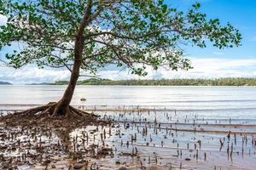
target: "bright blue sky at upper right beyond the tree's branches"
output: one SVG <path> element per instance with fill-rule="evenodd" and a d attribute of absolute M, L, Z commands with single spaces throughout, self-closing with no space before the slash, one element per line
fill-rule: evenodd
<path fill-rule="evenodd" d="M 188 54 L 196 57 L 220 57 L 230 59 L 255 58 L 256 51 L 256 1 L 255 0 L 179 0 L 166 1 L 177 8 L 187 9 L 195 2 L 201 3 L 201 11 L 208 18 L 218 18 L 223 24 L 230 22 L 238 28 L 242 34 L 242 46 L 239 48 L 228 48 L 218 50 L 207 47 L 186 48 Z"/>

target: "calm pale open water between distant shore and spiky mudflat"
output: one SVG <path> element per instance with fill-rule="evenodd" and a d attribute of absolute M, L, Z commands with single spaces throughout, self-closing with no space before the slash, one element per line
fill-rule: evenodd
<path fill-rule="evenodd" d="M 0 108 L 44 105 L 66 86 L 0 86 Z M 86 101 L 80 101 L 85 98 Z M 139 105 L 181 111 L 255 113 L 256 87 L 77 86 L 72 105 Z"/>

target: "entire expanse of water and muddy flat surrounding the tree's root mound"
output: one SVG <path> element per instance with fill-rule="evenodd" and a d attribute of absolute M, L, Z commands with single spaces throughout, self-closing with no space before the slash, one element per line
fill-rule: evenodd
<path fill-rule="evenodd" d="M 0 117 L 57 101 L 64 90 L 0 86 Z M 102 122 L 2 123 L 0 169 L 256 167 L 255 87 L 78 86 L 72 105 Z"/>

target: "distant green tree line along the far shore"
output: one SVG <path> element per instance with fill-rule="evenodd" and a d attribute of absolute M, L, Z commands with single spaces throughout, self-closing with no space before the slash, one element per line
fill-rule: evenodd
<path fill-rule="evenodd" d="M 55 85 L 66 85 L 58 81 Z M 218 79 L 157 79 L 157 80 L 109 80 L 90 78 L 79 81 L 78 85 L 125 85 L 125 86 L 256 86 L 256 78 L 218 78 Z"/>

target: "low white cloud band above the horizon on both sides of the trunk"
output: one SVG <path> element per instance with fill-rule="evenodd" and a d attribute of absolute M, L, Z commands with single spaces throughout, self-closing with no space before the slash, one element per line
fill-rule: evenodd
<path fill-rule="evenodd" d="M 112 80 L 119 79 L 147 79 L 147 78 L 218 78 L 218 77 L 256 77 L 256 58 L 254 59 L 221 59 L 221 58 L 192 58 L 194 69 L 189 71 L 170 71 L 161 68 L 152 71 L 148 68 L 147 77 L 132 75 L 129 71 L 106 70 L 98 75 Z M 25 67 L 20 70 L 0 68 L 0 81 L 24 84 L 31 82 L 55 82 L 68 80 L 70 72 L 67 70 L 49 70 Z"/>

